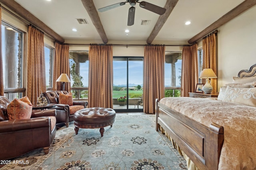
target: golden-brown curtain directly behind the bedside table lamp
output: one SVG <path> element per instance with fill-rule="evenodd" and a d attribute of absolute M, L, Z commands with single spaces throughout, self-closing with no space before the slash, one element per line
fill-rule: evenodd
<path fill-rule="evenodd" d="M 216 61 L 216 38 L 217 33 L 212 33 L 211 35 L 205 37 L 203 39 L 203 69 L 204 68 L 212 68 L 214 73 L 217 75 L 217 61 Z M 217 75 L 218 77 L 218 75 Z M 216 94 L 217 92 L 217 78 L 212 78 L 212 93 Z M 205 79 L 203 80 L 205 83 Z"/>

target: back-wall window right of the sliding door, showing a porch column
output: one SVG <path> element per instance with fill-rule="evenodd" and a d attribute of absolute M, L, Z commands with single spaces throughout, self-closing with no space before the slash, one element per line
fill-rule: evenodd
<path fill-rule="evenodd" d="M 180 96 L 181 52 L 166 52 L 164 65 L 165 97 Z"/>

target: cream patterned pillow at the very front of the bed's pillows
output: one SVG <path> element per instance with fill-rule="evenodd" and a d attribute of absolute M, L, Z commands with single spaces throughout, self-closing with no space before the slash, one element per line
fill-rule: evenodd
<path fill-rule="evenodd" d="M 222 101 L 256 107 L 256 88 L 237 88 L 227 86 Z"/>

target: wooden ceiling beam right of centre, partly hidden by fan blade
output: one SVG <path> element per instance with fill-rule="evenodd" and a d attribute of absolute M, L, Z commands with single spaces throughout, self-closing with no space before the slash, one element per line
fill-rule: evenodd
<path fill-rule="evenodd" d="M 174 9 L 174 7 L 176 6 L 177 2 L 178 2 L 178 0 L 166 0 L 166 4 L 164 6 L 164 8 L 166 9 L 166 12 L 163 15 L 159 16 L 159 18 L 156 22 L 156 25 L 154 26 L 154 29 L 152 30 L 152 32 L 150 33 L 150 35 L 147 39 L 148 44 L 151 44 L 152 41 L 155 39 L 156 35 L 158 35 L 159 31 L 161 30 L 164 23 L 170 16 L 170 14 L 171 14 L 172 10 Z"/>

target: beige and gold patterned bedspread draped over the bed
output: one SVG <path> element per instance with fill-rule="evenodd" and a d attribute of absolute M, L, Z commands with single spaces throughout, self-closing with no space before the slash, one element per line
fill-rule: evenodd
<path fill-rule="evenodd" d="M 160 103 L 209 127 L 224 127 L 219 170 L 256 169 L 256 107 L 208 98 L 163 98 Z"/>

